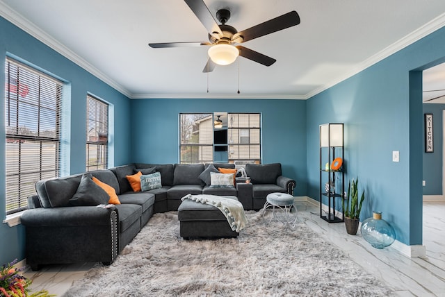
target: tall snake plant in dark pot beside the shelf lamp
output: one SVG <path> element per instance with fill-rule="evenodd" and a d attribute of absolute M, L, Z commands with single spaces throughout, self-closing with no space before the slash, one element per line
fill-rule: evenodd
<path fill-rule="evenodd" d="M 350 235 L 356 235 L 359 228 L 359 216 L 362 211 L 364 201 L 364 190 L 359 200 L 358 190 L 359 178 L 353 179 L 353 183 L 348 183 L 348 194 L 343 197 L 343 212 L 345 217 L 346 232 Z"/>

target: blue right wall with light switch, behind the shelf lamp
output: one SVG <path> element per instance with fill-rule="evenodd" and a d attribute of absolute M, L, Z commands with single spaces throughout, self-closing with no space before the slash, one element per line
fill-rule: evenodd
<path fill-rule="evenodd" d="M 444 56 L 442 28 L 307 100 L 308 196 L 318 199 L 318 125 L 343 122 L 346 180 L 358 176 L 366 191 L 361 219 L 382 211 L 399 241 L 421 244 L 421 70 Z"/>

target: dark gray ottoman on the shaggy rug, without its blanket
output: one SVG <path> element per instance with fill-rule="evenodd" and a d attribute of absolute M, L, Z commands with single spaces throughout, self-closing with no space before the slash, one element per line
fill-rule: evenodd
<path fill-rule="evenodd" d="M 236 196 L 223 197 L 238 200 Z M 184 239 L 237 237 L 239 235 L 238 232 L 232 231 L 223 212 L 213 205 L 186 199 L 178 207 L 178 219 L 179 235 Z"/>

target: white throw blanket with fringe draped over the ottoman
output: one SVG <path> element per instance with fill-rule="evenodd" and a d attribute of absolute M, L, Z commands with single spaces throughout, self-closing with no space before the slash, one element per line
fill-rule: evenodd
<path fill-rule="evenodd" d="M 229 222 L 230 228 L 232 228 L 233 231 L 240 232 L 240 230 L 243 230 L 245 227 L 245 224 L 248 223 L 248 219 L 245 217 L 243 205 L 241 202 L 235 199 L 205 194 L 187 194 L 181 198 L 182 201 L 186 199 L 217 207 L 218 210 L 223 212 L 227 218 L 227 221 Z"/>

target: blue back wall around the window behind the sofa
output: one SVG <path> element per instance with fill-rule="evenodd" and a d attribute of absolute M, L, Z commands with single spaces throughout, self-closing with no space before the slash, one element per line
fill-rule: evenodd
<path fill-rule="evenodd" d="M 180 112 L 261 112 L 263 163 L 281 162 L 306 194 L 306 101 L 140 99 L 131 101 L 132 161 L 179 162 Z"/>

